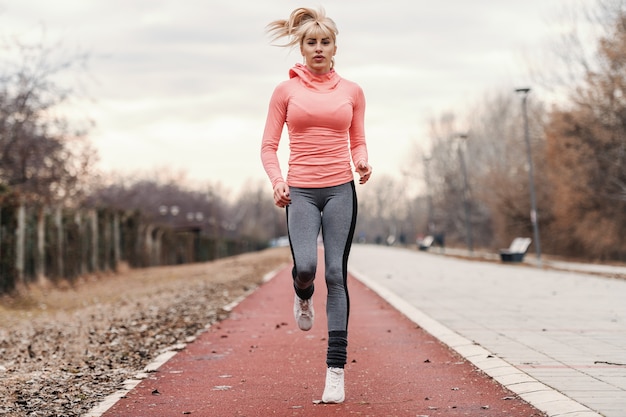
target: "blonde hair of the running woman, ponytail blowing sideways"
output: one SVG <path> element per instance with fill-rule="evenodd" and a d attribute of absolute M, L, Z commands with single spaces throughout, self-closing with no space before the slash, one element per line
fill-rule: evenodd
<path fill-rule="evenodd" d="M 337 25 L 326 16 L 322 7 L 318 10 L 300 7 L 291 12 L 288 20 L 275 20 L 266 26 L 272 35 L 272 42 L 288 38 L 287 43 L 279 46 L 301 45 L 306 36 L 324 36 L 337 41 Z"/>

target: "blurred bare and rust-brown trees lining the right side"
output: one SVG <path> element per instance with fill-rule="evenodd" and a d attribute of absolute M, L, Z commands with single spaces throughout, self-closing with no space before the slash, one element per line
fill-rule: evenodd
<path fill-rule="evenodd" d="M 599 1 L 584 16 L 601 32 L 596 48 L 584 50 L 577 34 L 568 34 L 558 46 L 566 73 L 543 74 L 544 82 L 551 79 L 548 87 L 560 89 L 558 103 L 549 105 L 532 90 L 524 102 L 511 89 L 486 96 L 463 123 L 454 114 L 433 121 L 430 149 L 421 153 L 432 198 L 430 229 L 423 230 L 445 231 L 459 243 L 469 232 L 486 248 L 532 237 L 529 191 L 534 185 L 545 252 L 626 260 L 626 6 Z"/>

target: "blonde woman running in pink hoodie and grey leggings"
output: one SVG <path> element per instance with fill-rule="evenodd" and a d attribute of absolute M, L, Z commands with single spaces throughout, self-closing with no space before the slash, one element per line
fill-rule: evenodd
<path fill-rule="evenodd" d="M 372 173 L 364 133 L 365 97 L 361 88 L 334 70 L 335 23 L 324 10 L 298 8 L 288 20 L 268 25 L 281 46 L 299 45 L 304 64 L 289 70 L 289 80 L 272 94 L 261 160 L 274 189 L 274 201 L 286 208 L 293 257 L 294 315 L 298 327 L 313 325 L 313 281 L 317 237 L 321 230 L 328 298 L 326 385 L 322 401 L 345 399 L 350 303 L 346 286 L 348 255 L 354 235 L 357 199 L 351 163 L 365 184 Z M 289 167 L 284 179 L 277 157 L 287 125 Z"/>

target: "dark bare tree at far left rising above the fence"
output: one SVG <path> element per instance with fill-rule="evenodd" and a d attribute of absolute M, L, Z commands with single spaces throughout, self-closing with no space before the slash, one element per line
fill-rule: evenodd
<path fill-rule="evenodd" d="M 73 94 L 55 77 L 86 56 L 54 55 L 56 46 L 5 45 L 0 63 L 0 182 L 44 204 L 76 201 L 97 157 L 85 127 L 70 126 L 59 106 Z M 72 198 L 70 200 L 70 198 Z"/>

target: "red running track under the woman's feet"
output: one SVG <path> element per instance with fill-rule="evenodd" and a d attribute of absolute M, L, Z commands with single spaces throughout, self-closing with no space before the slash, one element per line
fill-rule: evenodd
<path fill-rule="evenodd" d="M 294 323 L 286 267 L 236 305 L 227 320 L 101 407 L 107 411 L 90 415 L 543 416 L 352 277 L 346 401 L 316 404 L 326 351 L 319 277 L 322 265 L 310 332 Z"/>

